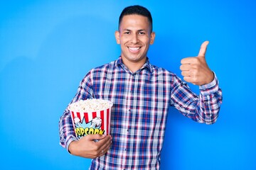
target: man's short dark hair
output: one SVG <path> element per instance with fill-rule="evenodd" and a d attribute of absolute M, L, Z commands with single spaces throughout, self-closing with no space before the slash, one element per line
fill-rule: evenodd
<path fill-rule="evenodd" d="M 152 21 L 151 13 L 149 12 L 149 10 L 147 8 L 145 8 L 143 6 L 139 6 L 139 5 L 127 6 L 126 8 L 124 8 L 124 10 L 122 11 L 122 13 L 119 16 L 118 28 L 120 26 L 120 23 L 122 22 L 122 18 L 124 16 L 132 15 L 132 14 L 137 14 L 139 16 L 146 16 L 146 18 L 148 18 L 148 20 L 149 20 L 149 26 L 151 27 L 150 32 L 152 32 L 152 30 L 153 30 L 153 21 Z"/>

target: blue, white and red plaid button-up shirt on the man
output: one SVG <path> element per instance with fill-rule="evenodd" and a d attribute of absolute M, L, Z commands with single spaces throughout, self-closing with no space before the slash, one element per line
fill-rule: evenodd
<path fill-rule="evenodd" d="M 142 69 L 130 72 L 121 57 L 92 69 L 80 82 L 73 102 L 102 98 L 112 107 L 112 147 L 92 159 L 90 169 L 159 169 L 166 115 L 174 106 L 199 123 L 215 123 L 222 92 L 215 79 L 199 87 L 199 96 L 175 74 L 146 61 Z M 76 140 L 69 111 L 60 118 L 60 145 Z"/>

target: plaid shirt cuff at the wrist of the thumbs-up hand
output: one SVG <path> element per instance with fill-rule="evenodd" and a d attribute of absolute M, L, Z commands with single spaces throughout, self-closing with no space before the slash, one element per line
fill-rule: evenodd
<path fill-rule="evenodd" d="M 218 88 L 218 79 L 216 77 L 215 72 L 213 72 L 213 74 L 214 74 L 213 81 L 211 81 L 209 84 L 204 84 L 204 85 L 199 86 L 199 89 L 200 89 L 201 94 L 203 96 L 206 96 L 206 95 L 209 95 L 209 94 L 213 94 L 216 91 L 218 91 L 218 89 L 219 89 Z"/>

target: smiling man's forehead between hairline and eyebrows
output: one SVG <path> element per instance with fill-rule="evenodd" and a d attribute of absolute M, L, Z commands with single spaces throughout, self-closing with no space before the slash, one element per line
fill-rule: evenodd
<path fill-rule="evenodd" d="M 127 15 L 122 18 L 119 28 L 120 30 L 129 28 L 149 29 L 149 20 L 146 16 L 140 16 L 137 14 Z"/>

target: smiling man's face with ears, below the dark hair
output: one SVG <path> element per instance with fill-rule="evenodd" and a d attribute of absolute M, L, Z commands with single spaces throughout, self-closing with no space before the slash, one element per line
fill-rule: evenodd
<path fill-rule="evenodd" d="M 155 37 L 150 30 L 149 21 L 145 16 L 127 15 L 122 18 L 115 38 L 121 45 L 124 64 L 144 64 L 149 45 L 153 44 Z"/>

